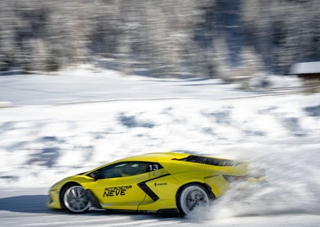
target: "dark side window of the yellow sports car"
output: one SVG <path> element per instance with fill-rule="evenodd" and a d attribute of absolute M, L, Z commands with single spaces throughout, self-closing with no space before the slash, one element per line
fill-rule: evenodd
<path fill-rule="evenodd" d="M 139 175 L 149 171 L 148 162 L 129 161 L 112 166 L 106 166 L 99 170 L 99 179 L 115 178 L 115 177 L 129 177 Z"/>

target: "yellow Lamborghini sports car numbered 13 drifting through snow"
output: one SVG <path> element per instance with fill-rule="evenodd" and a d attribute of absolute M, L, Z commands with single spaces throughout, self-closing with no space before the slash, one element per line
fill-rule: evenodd
<path fill-rule="evenodd" d="M 50 188 L 49 208 L 85 213 L 90 208 L 189 215 L 220 197 L 233 181 L 250 176 L 246 161 L 185 153 L 128 157 L 68 177 Z"/>

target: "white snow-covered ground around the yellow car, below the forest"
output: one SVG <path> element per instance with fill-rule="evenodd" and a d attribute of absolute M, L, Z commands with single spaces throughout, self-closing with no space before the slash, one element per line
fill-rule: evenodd
<path fill-rule="evenodd" d="M 70 71 L 0 76 L 0 106 L 1 226 L 320 226 L 320 94 Z M 189 219 L 45 206 L 63 177 L 173 150 L 250 161 L 266 168 L 270 187 L 230 190 Z"/>

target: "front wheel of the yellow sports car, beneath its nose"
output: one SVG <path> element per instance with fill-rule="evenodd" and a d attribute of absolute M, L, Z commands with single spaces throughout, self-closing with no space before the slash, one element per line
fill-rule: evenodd
<path fill-rule="evenodd" d="M 89 197 L 86 189 L 81 186 L 71 186 L 64 190 L 63 205 L 70 213 L 86 213 L 89 210 Z"/>

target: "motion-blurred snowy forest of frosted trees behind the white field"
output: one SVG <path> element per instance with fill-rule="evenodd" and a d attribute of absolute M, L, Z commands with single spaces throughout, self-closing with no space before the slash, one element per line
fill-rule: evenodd
<path fill-rule="evenodd" d="M 286 75 L 320 57 L 319 0 L 1 0 L 0 70 L 114 59 L 154 77 Z"/>

